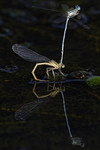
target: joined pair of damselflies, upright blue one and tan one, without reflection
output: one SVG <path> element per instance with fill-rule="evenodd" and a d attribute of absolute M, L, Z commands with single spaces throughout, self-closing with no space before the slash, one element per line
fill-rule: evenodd
<path fill-rule="evenodd" d="M 54 12 L 60 12 L 61 11 L 57 11 L 54 9 L 48 9 L 48 8 L 42 8 L 42 7 L 37 7 L 37 6 L 33 6 L 34 8 L 39 8 L 39 9 L 43 9 L 43 10 L 51 10 Z M 76 19 L 74 19 L 73 17 L 77 16 L 79 14 L 80 11 L 80 6 L 76 5 L 75 8 L 69 9 L 67 5 L 62 5 L 64 12 L 62 12 L 62 17 L 58 18 L 55 20 L 55 23 L 60 23 L 62 21 L 66 20 L 66 24 L 65 24 L 65 29 L 64 29 L 64 34 L 63 34 L 63 40 L 62 40 L 62 49 L 61 49 L 61 59 L 60 62 L 57 63 L 54 60 L 50 60 L 49 58 L 42 56 L 24 46 L 18 45 L 18 44 L 14 44 L 12 46 L 13 51 L 18 54 L 20 57 L 22 57 L 25 60 L 31 61 L 31 62 L 38 62 L 35 67 L 32 70 L 32 75 L 34 77 L 35 80 L 40 81 L 40 79 L 38 79 L 35 75 L 35 70 L 38 66 L 40 65 L 47 65 L 49 67 L 46 68 L 46 74 L 49 78 L 49 72 L 52 71 L 53 77 L 55 79 L 55 70 L 58 70 L 59 73 L 62 76 L 66 76 L 62 71 L 61 68 L 64 68 L 65 65 L 62 63 L 63 62 L 63 55 L 64 55 L 64 42 L 65 42 L 65 35 L 66 35 L 66 30 L 67 30 L 67 25 L 68 25 L 68 21 L 70 18 L 72 18 L 73 20 L 75 20 L 77 23 L 79 23 L 80 25 L 82 25 L 84 28 L 89 29 L 89 27 L 85 24 L 82 24 L 80 22 L 78 22 Z"/>

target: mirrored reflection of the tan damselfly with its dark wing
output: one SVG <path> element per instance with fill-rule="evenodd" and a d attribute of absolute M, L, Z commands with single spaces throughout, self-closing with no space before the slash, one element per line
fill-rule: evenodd
<path fill-rule="evenodd" d="M 55 97 L 58 93 L 61 91 L 65 91 L 65 87 L 55 86 L 55 83 L 52 87 L 50 87 L 49 83 L 47 85 L 47 91 L 46 94 L 39 95 L 36 91 L 36 82 L 33 87 L 33 93 L 36 96 L 37 99 L 35 99 L 33 102 L 26 103 L 22 107 L 20 107 L 15 112 L 15 119 L 16 120 L 27 120 L 34 111 L 36 111 L 44 102 L 48 102 L 50 100 L 50 97 Z"/>

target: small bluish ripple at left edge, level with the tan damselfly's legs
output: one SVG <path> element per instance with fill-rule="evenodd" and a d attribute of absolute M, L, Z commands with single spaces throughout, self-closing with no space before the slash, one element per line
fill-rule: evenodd
<path fill-rule="evenodd" d="M 7 73 L 14 73 L 18 70 L 18 67 L 15 65 L 9 65 L 5 67 L 0 67 L 0 71 L 7 72 Z"/>

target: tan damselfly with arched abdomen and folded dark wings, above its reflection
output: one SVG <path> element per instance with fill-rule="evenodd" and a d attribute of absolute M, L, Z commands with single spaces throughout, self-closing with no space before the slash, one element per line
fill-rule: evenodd
<path fill-rule="evenodd" d="M 35 80 L 41 81 L 35 75 L 35 71 L 36 71 L 37 67 L 41 66 L 41 65 L 49 66 L 48 68 L 46 68 L 46 74 L 47 74 L 48 78 L 49 78 L 49 72 L 51 71 L 53 74 L 53 77 L 55 79 L 55 72 L 54 72 L 55 70 L 58 70 L 62 76 L 65 76 L 64 73 L 61 71 L 61 68 L 65 67 L 64 64 L 57 63 L 55 60 L 50 60 L 49 58 L 47 58 L 43 55 L 40 55 L 40 54 L 32 51 L 31 49 L 28 49 L 28 48 L 18 45 L 18 44 L 14 44 L 12 46 L 12 49 L 17 55 L 19 55 L 23 59 L 30 61 L 30 62 L 38 62 L 38 63 L 36 63 L 35 67 L 32 70 L 32 75 Z"/>

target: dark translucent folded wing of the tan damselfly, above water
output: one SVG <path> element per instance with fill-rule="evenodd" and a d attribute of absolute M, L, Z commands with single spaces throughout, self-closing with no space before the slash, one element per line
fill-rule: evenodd
<path fill-rule="evenodd" d="M 17 55 L 19 55 L 20 57 L 22 57 L 23 59 L 29 62 L 49 62 L 50 61 L 49 58 L 42 56 L 32 51 L 31 49 L 28 49 L 18 44 L 14 44 L 12 46 L 12 49 Z"/>

